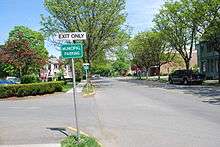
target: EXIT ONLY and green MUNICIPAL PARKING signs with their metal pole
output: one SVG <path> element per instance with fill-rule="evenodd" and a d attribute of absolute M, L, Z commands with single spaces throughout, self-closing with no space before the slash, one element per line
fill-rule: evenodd
<path fill-rule="evenodd" d="M 62 41 L 74 41 L 74 40 L 86 40 L 85 32 L 70 32 L 70 33 L 59 33 L 58 40 Z M 79 141 L 80 132 L 77 117 L 77 103 L 76 103 L 76 76 L 74 68 L 74 59 L 83 57 L 83 45 L 81 43 L 65 43 L 61 45 L 61 55 L 64 59 L 72 60 L 72 76 L 73 76 L 73 107 L 75 112 L 75 124 L 76 124 L 76 135 Z"/>

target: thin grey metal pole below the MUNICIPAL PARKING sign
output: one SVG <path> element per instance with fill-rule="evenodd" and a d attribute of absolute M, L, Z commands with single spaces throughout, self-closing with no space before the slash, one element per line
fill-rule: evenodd
<path fill-rule="evenodd" d="M 75 76 L 75 68 L 74 68 L 74 59 L 72 58 L 72 76 L 73 76 L 73 106 L 75 111 L 75 124 L 76 124 L 76 136 L 77 141 L 79 141 L 79 125 L 77 118 L 77 107 L 76 107 L 76 76 Z"/>

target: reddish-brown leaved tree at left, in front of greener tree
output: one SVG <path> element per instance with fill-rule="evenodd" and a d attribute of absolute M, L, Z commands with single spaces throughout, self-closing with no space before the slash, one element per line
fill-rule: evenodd
<path fill-rule="evenodd" d="M 38 73 L 39 69 L 46 64 L 46 59 L 30 47 L 23 33 L 18 33 L 16 38 L 10 38 L 0 50 L 0 61 L 8 64 L 10 69 L 16 69 L 19 76 Z M 4 68 L 7 70 L 7 68 Z"/>

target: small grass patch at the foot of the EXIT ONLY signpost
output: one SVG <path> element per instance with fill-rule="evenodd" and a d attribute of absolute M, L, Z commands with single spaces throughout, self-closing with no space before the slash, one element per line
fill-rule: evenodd
<path fill-rule="evenodd" d="M 101 147 L 95 138 L 80 135 L 80 143 L 77 143 L 76 136 L 68 136 L 61 142 L 61 147 Z"/>

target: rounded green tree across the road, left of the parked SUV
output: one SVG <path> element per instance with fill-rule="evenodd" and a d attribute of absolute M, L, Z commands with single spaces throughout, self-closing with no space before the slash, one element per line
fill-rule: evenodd
<path fill-rule="evenodd" d="M 133 62 L 139 67 L 144 67 L 146 71 L 151 66 L 157 66 L 160 70 L 163 64 L 171 62 L 175 57 L 175 52 L 160 32 L 138 34 L 131 40 L 129 49 L 133 55 Z"/>

